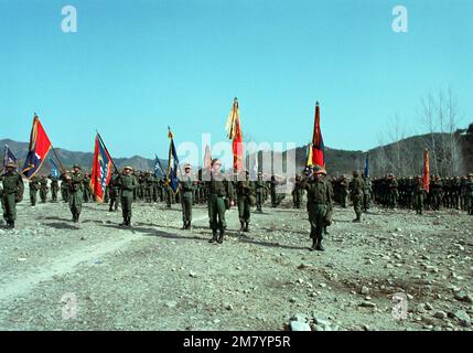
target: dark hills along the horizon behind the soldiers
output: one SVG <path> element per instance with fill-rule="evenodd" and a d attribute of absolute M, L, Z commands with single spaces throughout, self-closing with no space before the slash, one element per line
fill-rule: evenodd
<path fill-rule="evenodd" d="M 369 153 L 370 174 L 373 176 L 394 172 L 397 175 L 419 174 L 422 170 L 422 151 L 430 150 L 431 172 L 442 175 L 459 175 L 473 171 L 473 124 L 467 129 L 458 130 L 454 135 L 455 143 L 448 133 L 427 133 L 409 137 L 397 142 L 379 146 L 367 151 Z M 18 142 L 10 139 L 0 140 L 0 148 L 8 145 L 13 153 L 24 160 L 28 152 L 26 142 Z M 56 152 L 66 168 L 78 163 L 85 169 L 92 168 L 93 153 L 68 151 L 56 148 Z M 277 152 L 275 152 L 277 153 Z M 286 161 L 287 152 L 283 152 Z M 52 154 L 51 154 L 52 156 Z M 50 157 L 51 157 L 50 156 Z M 326 169 L 331 175 L 350 174 L 354 169 L 362 170 L 366 152 L 355 150 L 341 150 L 325 148 Z M 259 153 L 259 165 L 262 156 Z M 307 148 L 295 149 L 297 170 L 305 164 Z M 131 158 L 114 159 L 118 168 L 131 165 L 137 170 L 153 170 L 154 161 L 140 156 Z M 166 161 L 162 160 L 163 165 Z M 283 163 L 286 168 L 286 163 Z M 46 162 L 44 168 L 49 171 Z"/>

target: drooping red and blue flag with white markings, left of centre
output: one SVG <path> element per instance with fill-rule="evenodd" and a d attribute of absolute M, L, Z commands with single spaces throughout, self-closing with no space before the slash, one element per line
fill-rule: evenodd
<path fill-rule="evenodd" d="M 110 174 L 111 157 L 97 133 L 95 137 L 94 161 L 92 163 L 90 189 L 99 203 L 104 202 L 105 189 L 110 181 Z"/>

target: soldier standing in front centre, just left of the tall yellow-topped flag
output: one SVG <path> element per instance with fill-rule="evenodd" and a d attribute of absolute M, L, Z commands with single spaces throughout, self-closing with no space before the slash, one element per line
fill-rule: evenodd
<path fill-rule="evenodd" d="M 219 159 L 214 159 L 211 164 L 211 175 L 204 180 L 208 186 L 208 218 L 212 228 L 212 239 L 209 243 L 217 242 L 222 244 L 224 240 L 225 229 L 227 223 L 225 221 L 226 202 L 233 203 L 233 200 L 228 199 L 233 194 L 232 182 L 228 181 L 221 171 L 222 162 Z M 217 237 L 218 232 L 218 237 Z"/>

